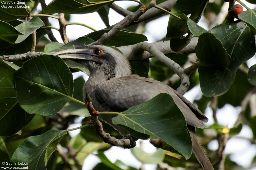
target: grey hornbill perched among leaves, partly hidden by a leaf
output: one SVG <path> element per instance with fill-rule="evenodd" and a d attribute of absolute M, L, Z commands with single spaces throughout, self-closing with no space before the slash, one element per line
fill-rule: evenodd
<path fill-rule="evenodd" d="M 159 93 L 168 93 L 185 116 L 193 143 L 193 152 L 205 170 L 213 169 L 207 155 L 202 149 L 195 127 L 204 128 L 201 121 L 207 122 L 206 116 L 171 87 L 151 78 L 131 75 L 127 58 L 119 51 L 106 46 L 74 45 L 74 48 L 84 49 L 75 54 L 76 61 L 86 66 L 90 77 L 84 84 L 83 95 L 92 98 L 92 104 L 97 111 L 122 112 L 134 105 L 142 104 Z M 123 136 L 127 132 L 112 123 L 111 115 L 99 115 L 99 118 L 118 130 Z"/>

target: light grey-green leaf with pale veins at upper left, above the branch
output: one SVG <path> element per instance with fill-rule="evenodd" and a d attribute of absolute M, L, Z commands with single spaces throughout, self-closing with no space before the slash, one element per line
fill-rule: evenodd
<path fill-rule="evenodd" d="M 15 41 L 16 44 L 24 41 L 30 34 L 44 25 L 44 22 L 39 17 L 33 17 L 27 22 L 17 25 L 15 28 L 24 35 L 19 35 Z"/>

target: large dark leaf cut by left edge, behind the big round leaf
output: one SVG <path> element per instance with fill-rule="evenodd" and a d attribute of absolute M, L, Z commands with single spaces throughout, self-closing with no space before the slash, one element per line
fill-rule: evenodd
<path fill-rule="evenodd" d="M 27 125 L 34 114 L 26 113 L 18 104 L 13 87 L 13 73 L 19 67 L 0 59 L 0 136 L 11 136 Z"/>

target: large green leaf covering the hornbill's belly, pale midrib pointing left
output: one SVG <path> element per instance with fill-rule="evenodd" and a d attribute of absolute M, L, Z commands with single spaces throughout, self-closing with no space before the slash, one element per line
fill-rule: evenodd
<path fill-rule="evenodd" d="M 191 155 L 192 143 L 186 120 L 169 94 L 158 94 L 144 104 L 131 107 L 112 118 L 112 122 L 150 135 L 150 139 L 162 139 L 185 158 Z M 129 133 L 136 137 L 132 131 Z"/>

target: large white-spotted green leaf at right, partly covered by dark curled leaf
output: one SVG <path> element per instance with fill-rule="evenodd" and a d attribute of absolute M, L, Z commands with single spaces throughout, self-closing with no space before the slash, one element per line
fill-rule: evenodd
<path fill-rule="evenodd" d="M 212 32 L 230 55 L 231 63 L 227 67 L 206 62 L 199 64 L 200 87 L 207 97 L 228 91 L 237 68 L 255 54 L 254 33 L 246 23 L 223 23 Z"/>

